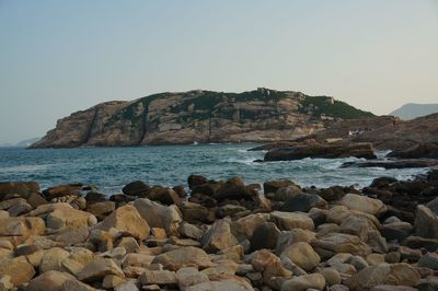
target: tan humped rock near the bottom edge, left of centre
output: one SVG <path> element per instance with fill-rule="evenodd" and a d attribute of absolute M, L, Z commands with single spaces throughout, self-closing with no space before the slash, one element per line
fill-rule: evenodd
<path fill-rule="evenodd" d="M 78 279 L 83 282 L 94 282 L 102 280 L 107 275 L 115 275 L 125 278 L 124 272 L 111 258 L 96 258 L 87 264 L 78 273 Z"/>

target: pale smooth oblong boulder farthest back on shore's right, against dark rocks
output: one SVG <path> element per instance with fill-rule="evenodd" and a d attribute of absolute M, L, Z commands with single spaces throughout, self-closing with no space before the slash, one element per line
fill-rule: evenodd
<path fill-rule="evenodd" d="M 350 210 L 356 210 L 369 214 L 377 216 L 385 211 L 385 206 L 379 199 L 369 198 L 367 196 L 357 194 L 347 194 L 341 200 L 339 203 L 347 207 Z"/>

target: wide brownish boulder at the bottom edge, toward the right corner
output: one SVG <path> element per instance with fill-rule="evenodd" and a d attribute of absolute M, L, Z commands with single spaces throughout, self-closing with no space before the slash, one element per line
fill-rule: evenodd
<path fill-rule="evenodd" d="M 418 271 L 405 264 L 379 264 L 362 269 L 345 281 L 353 291 L 366 291 L 380 284 L 414 287 L 419 282 Z"/>

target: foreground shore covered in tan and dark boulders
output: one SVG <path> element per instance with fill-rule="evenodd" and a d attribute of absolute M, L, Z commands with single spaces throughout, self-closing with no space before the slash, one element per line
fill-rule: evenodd
<path fill-rule="evenodd" d="M 0 290 L 438 290 L 438 170 L 187 186 L 0 183 Z"/>

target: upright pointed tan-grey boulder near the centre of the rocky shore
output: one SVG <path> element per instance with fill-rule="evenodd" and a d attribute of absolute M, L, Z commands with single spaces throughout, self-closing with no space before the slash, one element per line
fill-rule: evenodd
<path fill-rule="evenodd" d="M 203 248 L 208 253 L 216 253 L 238 243 L 238 240 L 231 233 L 230 222 L 224 219 L 217 220 L 204 234 L 200 242 Z"/>

